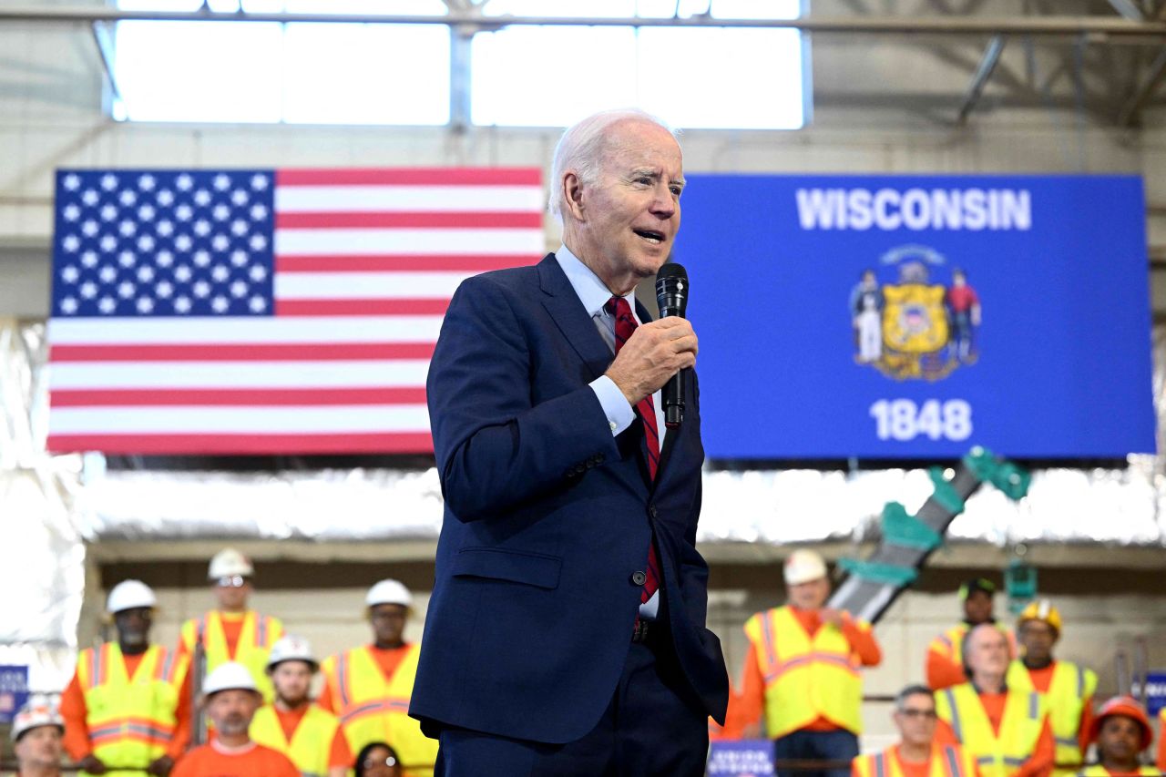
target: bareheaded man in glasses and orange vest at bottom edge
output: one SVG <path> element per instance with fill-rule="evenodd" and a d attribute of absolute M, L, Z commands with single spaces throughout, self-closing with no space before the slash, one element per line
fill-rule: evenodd
<path fill-rule="evenodd" d="M 967 750 L 935 741 L 935 695 L 927 686 L 908 685 L 900 691 L 891 719 L 899 743 L 855 758 L 851 777 L 979 777 L 976 760 Z"/>

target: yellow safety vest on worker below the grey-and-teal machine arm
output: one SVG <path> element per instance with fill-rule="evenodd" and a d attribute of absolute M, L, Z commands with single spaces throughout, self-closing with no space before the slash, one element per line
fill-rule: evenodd
<path fill-rule="evenodd" d="M 785 736 L 819 718 L 862 732 L 863 681 L 842 630 L 823 623 L 810 639 L 788 606 L 753 615 L 745 636 L 765 678 L 765 729 Z"/>

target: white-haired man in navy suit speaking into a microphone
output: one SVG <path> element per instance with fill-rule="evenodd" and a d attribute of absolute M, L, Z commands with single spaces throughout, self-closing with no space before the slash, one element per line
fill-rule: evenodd
<path fill-rule="evenodd" d="M 634 298 L 683 186 L 658 120 L 590 117 L 555 150 L 563 246 L 450 302 L 428 380 L 445 517 L 409 708 L 438 777 L 704 774 L 728 677 L 695 546 L 694 371 L 681 426 L 660 402 L 697 341 Z"/>

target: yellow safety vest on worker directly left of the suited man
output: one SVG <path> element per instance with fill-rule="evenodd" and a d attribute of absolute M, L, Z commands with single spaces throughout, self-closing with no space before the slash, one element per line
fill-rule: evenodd
<path fill-rule="evenodd" d="M 409 718 L 409 699 L 417 674 L 420 645 L 410 645 L 389 680 L 368 648 L 354 648 L 324 659 L 323 672 L 340 716 L 340 730 L 352 755 L 370 742 L 387 742 L 396 750 L 407 777 L 433 775 L 437 740 L 421 733 Z"/>

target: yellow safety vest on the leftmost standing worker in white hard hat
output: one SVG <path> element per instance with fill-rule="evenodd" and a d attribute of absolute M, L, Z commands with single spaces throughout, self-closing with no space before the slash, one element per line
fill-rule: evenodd
<path fill-rule="evenodd" d="M 146 650 L 133 678 L 126 676 L 117 643 L 80 651 L 77 681 L 85 696 L 93 755 L 111 766 L 136 768 L 106 775 L 140 777 L 166 755 L 177 724 L 185 674 L 185 659 L 159 645 Z"/>

